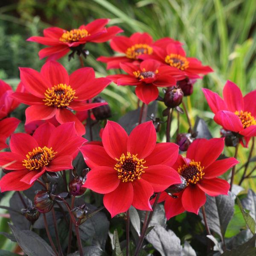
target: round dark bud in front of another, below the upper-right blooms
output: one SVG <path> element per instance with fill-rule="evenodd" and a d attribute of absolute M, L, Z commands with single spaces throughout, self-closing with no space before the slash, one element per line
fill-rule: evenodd
<path fill-rule="evenodd" d="M 163 101 L 166 107 L 168 108 L 176 108 L 180 103 L 182 102 L 183 99 L 183 92 L 178 86 L 171 86 L 168 87 Z"/>

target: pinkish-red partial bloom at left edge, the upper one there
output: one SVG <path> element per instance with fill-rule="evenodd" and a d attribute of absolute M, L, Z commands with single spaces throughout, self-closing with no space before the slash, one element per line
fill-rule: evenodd
<path fill-rule="evenodd" d="M 24 92 L 25 88 L 19 83 L 16 92 Z M 13 93 L 12 87 L 6 82 L 0 80 L 0 119 L 8 116 L 20 105 L 20 102 L 9 97 Z"/>

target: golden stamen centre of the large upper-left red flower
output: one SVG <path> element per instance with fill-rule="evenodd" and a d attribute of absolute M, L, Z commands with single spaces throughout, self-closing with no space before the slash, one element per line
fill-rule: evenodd
<path fill-rule="evenodd" d="M 67 107 L 70 105 L 70 102 L 73 102 L 73 99 L 76 99 L 77 97 L 74 96 L 76 93 L 76 90 L 73 90 L 70 85 L 67 86 L 67 84 L 58 84 L 54 85 L 52 89 L 48 88 L 46 90 L 45 99 L 43 99 L 45 105 L 48 106 L 54 106 L 57 108 L 61 107 Z"/>

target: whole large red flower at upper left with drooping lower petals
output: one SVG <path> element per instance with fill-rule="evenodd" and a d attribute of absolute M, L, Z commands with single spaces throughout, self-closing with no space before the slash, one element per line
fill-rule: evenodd
<path fill-rule="evenodd" d="M 26 109 L 26 124 L 56 117 L 61 124 L 75 122 L 76 134 L 85 134 L 84 125 L 69 110 L 83 111 L 107 103 L 86 103 L 110 84 L 106 78 L 95 79 L 90 67 L 80 68 L 70 76 L 56 61 L 48 61 L 41 73 L 31 68 L 20 68 L 20 79 L 29 93 L 13 93 L 12 98 L 31 105 Z"/>

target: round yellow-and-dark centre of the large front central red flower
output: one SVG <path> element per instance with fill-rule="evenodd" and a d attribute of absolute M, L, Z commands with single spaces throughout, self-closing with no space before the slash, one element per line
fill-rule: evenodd
<path fill-rule="evenodd" d="M 143 166 L 146 162 L 144 159 L 138 159 L 137 154 L 132 155 L 130 152 L 127 152 L 127 156 L 122 154 L 120 159 L 116 158 L 118 161 L 114 167 L 114 169 L 118 173 L 118 178 L 122 180 L 122 182 L 134 181 L 136 179 L 140 180 L 140 176 L 144 171 L 144 169 L 148 168 Z"/>

